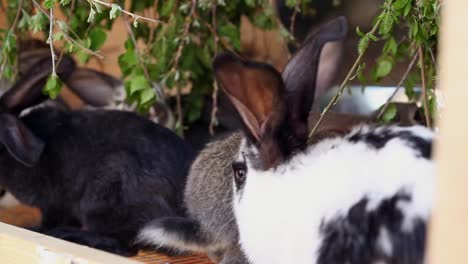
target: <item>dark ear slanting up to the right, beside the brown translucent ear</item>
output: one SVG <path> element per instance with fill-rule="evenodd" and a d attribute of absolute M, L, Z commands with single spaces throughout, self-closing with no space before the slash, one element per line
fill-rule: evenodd
<path fill-rule="evenodd" d="M 336 44 L 330 42 L 342 40 L 348 32 L 347 25 L 345 17 L 338 17 L 309 33 L 302 47 L 284 68 L 282 77 L 288 98 L 287 105 L 291 110 L 291 125 L 294 127 L 307 126 L 307 117 L 316 91 L 325 90 L 325 86 L 331 84 L 330 75 L 337 68 L 340 49 L 335 50 Z M 322 52 L 325 44 L 327 49 Z"/>

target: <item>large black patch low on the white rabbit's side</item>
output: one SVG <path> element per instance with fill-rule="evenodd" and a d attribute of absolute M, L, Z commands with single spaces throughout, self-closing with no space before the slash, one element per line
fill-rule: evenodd
<path fill-rule="evenodd" d="M 377 208 L 366 209 L 368 198 L 361 199 L 344 216 L 322 223 L 323 236 L 319 264 L 422 264 L 426 240 L 426 223 L 415 219 L 412 230 L 403 230 L 403 212 L 398 203 L 411 197 L 400 192 L 383 200 Z M 379 243 L 382 230 L 387 232 L 391 251 Z"/>

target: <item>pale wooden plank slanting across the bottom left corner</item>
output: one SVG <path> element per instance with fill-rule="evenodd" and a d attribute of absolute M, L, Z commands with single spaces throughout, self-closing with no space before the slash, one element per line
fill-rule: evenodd
<path fill-rule="evenodd" d="M 0 223 L 0 260 L 8 264 L 140 263 L 4 223 Z"/>

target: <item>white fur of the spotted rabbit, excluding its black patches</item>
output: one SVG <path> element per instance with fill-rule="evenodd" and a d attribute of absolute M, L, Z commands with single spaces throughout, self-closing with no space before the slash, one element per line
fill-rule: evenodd
<path fill-rule="evenodd" d="M 393 129 L 433 137 L 422 127 Z M 249 163 L 234 211 L 240 243 L 253 264 L 316 263 L 322 220 L 346 214 L 364 196 L 378 205 L 404 189 L 412 196 L 404 205 L 405 221 L 427 219 L 430 213 L 435 165 L 400 139 L 380 150 L 364 142 L 326 139 L 275 170 L 258 171 Z M 381 246 L 391 251 L 385 234 L 380 235 Z"/>

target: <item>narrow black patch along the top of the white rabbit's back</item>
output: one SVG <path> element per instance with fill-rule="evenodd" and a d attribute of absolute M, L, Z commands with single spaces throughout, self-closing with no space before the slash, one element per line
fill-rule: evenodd
<path fill-rule="evenodd" d="M 414 148 L 420 157 L 430 159 L 432 156 L 432 142 L 426 140 L 418 135 L 415 135 L 411 131 L 393 131 L 390 128 L 383 130 L 371 129 L 370 131 L 362 132 L 359 131 L 349 137 L 349 141 L 353 143 L 365 142 L 369 146 L 379 150 L 385 147 L 385 145 L 392 139 L 401 139 L 407 142 L 412 148 Z"/>

